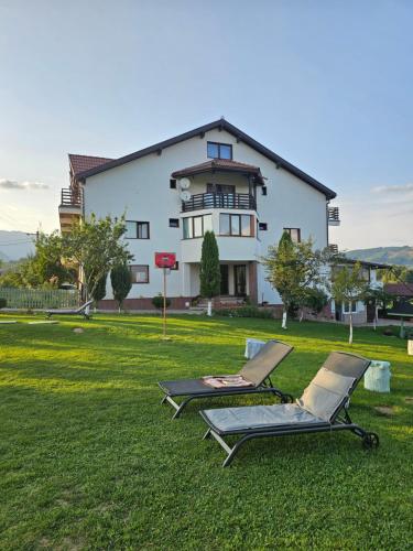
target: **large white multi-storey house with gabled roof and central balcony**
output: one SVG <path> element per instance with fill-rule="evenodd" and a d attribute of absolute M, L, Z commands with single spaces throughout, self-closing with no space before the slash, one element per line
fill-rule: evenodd
<path fill-rule="evenodd" d="M 126 214 L 133 285 L 127 309 L 152 307 L 162 291 L 154 253 L 176 253 L 167 280 L 172 307 L 199 294 L 203 235 L 217 236 L 222 298 L 281 304 L 260 258 L 287 230 L 327 247 L 338 225 L 335 192 L 225 119 L 110 160 L 69 155 L 70 187 L 62 191 L 62 230 L 74 217 Z M 110 299 L 108 287 L 107 299 Z M 108 301 L 107 307 L 115 307 Z"/>

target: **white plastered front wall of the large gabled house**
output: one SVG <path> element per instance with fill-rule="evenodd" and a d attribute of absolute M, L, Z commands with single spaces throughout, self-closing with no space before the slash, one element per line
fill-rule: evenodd
<path fill-rule="evenodd" d="M 153 296 L 162 290 L 162 271 L 154 268 L 155 251 L 176 252 L 181 266 L 178 271 L 172 271 L 169 277 L 169 294 L 185 294 L 188 272 L 185 273 L 183 260 L 199 260 L 202 239 L 194 239 L 193 244 L 182 241 L 182 223 L 180 228 L 169 227 L 169 218 L 181 217 L 180 191 L 170 190 L 170 179 L 174 171 L 205 162 L 207 141 L 231 143 L 235 161 L 260 166 L 262 175 L 267 177 L 268 195 L 261 195 L 258 188 L 257 215 L 260 222 L 268 224 L 268 231 L 260 233 L 260 240 L 218 238 L 221 260 L 258 260 L 261 255 L 265 255 L 269 245 L 279 241 L 284 227 L 301 228 L 302 238 L 312 237 L 317 248 L 327 245 L 326 198 L 322 193 L 285 170 L 278 170 L 275 163 L 249 145 L 237 143 L 236 138 L 228 132 L 211 130 L 203 139 L 196 137 L 166 148 L 161 155 L 153 153 L 87 179 L 86 216 L 90 213 L 98 217 L 107 214 L 121 216 L 126 213 L 127 219 L 150 222 L 151 239 L 129 240 L 130 250 L 135 256 L 133 263 L 150 266 L 150 283 L 134 284 L 129 298 Z M 236 176 L 220 174 L 215 174 L 214 177 L 197 176 L 191 192 L 206 191 L 206 182 L 232 183 L 235 180 Z M 248 192 L 243 176 L 239 176 L 237 187 L 240 193 Z M 214 213 L 214 216 L 216 220 L 218 213 Z M 280 299 L 264 280 L 260 266 L 258 274 L 259 300 L 279 303 Z"/>

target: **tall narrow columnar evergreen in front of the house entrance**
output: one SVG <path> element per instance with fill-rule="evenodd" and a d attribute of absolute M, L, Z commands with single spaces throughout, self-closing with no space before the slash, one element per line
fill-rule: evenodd
<path fill-rule="evenodd" d="M 200 255 L 200 295 L 208 299 L 208 315 L 213 315 L 213 298 L 220 292 L 221 272 L 219 268 L 218 244 L 214 231 L 206 231 Z"/>

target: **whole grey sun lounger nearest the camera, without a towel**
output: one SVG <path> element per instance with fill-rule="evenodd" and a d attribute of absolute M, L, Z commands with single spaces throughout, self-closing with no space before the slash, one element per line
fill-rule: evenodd
<path fill-rule="evenodd" d="M 379 445 L 379 436 L 355 424 L 348 413 L 350 396 L 370 360 L 354 354 L 334 352 L 296 403 L 251 406 L 200 411 L 208 424 L 204 440 L 214 436 L 227 452 L 229 465 L 248 441 L 315 432 L 351 431 L 365 447 Z M 230 447 L 226 436 L 241 436 Z"/>

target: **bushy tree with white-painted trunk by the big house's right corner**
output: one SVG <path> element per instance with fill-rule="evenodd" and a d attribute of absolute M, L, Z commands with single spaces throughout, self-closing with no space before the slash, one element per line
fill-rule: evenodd
<path fill-rule="evenodd" d="M 268 281 L 283 302 L 283 329 L 286 329 L 289 311 L 294 306 L 303 309 L 308 289 L 323 284 L 323 266 L 326 258 L 326 252 L 313 250 L 312 239 L 293 242 L 286 231 L 281 236 L 278 246 L 269 247 L 262 263 Z"/>

